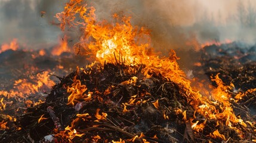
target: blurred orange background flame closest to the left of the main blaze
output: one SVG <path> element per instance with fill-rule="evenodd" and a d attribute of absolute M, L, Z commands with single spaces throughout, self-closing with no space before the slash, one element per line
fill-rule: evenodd
<path fill-rule="evenodd" d="M 59 45 L 53 48 L 51 51 L 52 55 L 61 55 L 63 52 L 70 52 L 69 46 L 67 45 L 67 36 L 60 39 Z"/>

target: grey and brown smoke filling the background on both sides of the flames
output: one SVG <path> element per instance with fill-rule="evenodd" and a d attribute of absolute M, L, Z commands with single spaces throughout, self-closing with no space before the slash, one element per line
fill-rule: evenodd
<path fill-rule="evenodd" d="M 60 30 L 51 24 L 64 2 L 0 0 L 0 43 L 17 38 L 27 45 L 56 43 Z M 255 43 L 256 1 L 239 0 L 88 0 L 98 20 L 114 13 L 130 15 L 132 24 L 152 30 L 156 51 L 190 50 L 206 41 Z M 41 15 L 45 11 L 45 15 Z M 165 54 L 164 54 L 165 55 Z"/>

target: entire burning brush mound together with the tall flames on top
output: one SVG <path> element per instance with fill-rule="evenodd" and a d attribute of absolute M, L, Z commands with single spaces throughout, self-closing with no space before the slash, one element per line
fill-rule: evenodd
<path fill-rule="evenodd" d="M 117 14 L 115 24 L 97 21 L 94 11 L 82 0 L 70 0 L 56 17 L 62 30 L 81 29 L 76 53 L 96 61 L 58 77 L 47 100 L 27 107 L 21 119 L 2 117 L 1 129 L 8 130 L 1 130 L 2 141 L 254 141 L 254 119 L 233 110 L 243 97 L 233 98 L 233 84 L 225 85 L 217 74 L 216 88 L 202 96 L 180 70 L 174 51 L 162 58 L 153 52 L 149 30 Z"/>

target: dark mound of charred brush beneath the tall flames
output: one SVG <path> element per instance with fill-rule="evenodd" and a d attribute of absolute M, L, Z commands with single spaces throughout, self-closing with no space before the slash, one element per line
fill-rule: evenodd
<path fill-rule="evenodd" d="M 27 108 L 9 129 L 1 130 L 5 142 L 221 142 L 209 136 L 217 130 L 239 141 L 235 130 L 217 125 L 196 113 L 203 132 L 192 130 L 195 110 L 182 85 L 141 66 L 93 64 L 60 78 L 46 101 Z M 184 112 L 186 110 L 186 112 Z"/>

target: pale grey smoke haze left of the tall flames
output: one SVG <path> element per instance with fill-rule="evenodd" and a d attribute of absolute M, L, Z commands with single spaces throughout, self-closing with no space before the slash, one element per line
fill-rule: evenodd
<path fill-rule="evenodd" d="M 53 3 L 48 2 L 49 5 Z M 39 6 L 42 3 L 44 0 L 1 0 L 0 45 L 14 38 L 26 48 L 47 48 L 45 46 L 57 43 L 60 30 L 45 18 L 53 18 L 53 15 L 46 13 L 41 16 L 43 9 Z"/>

